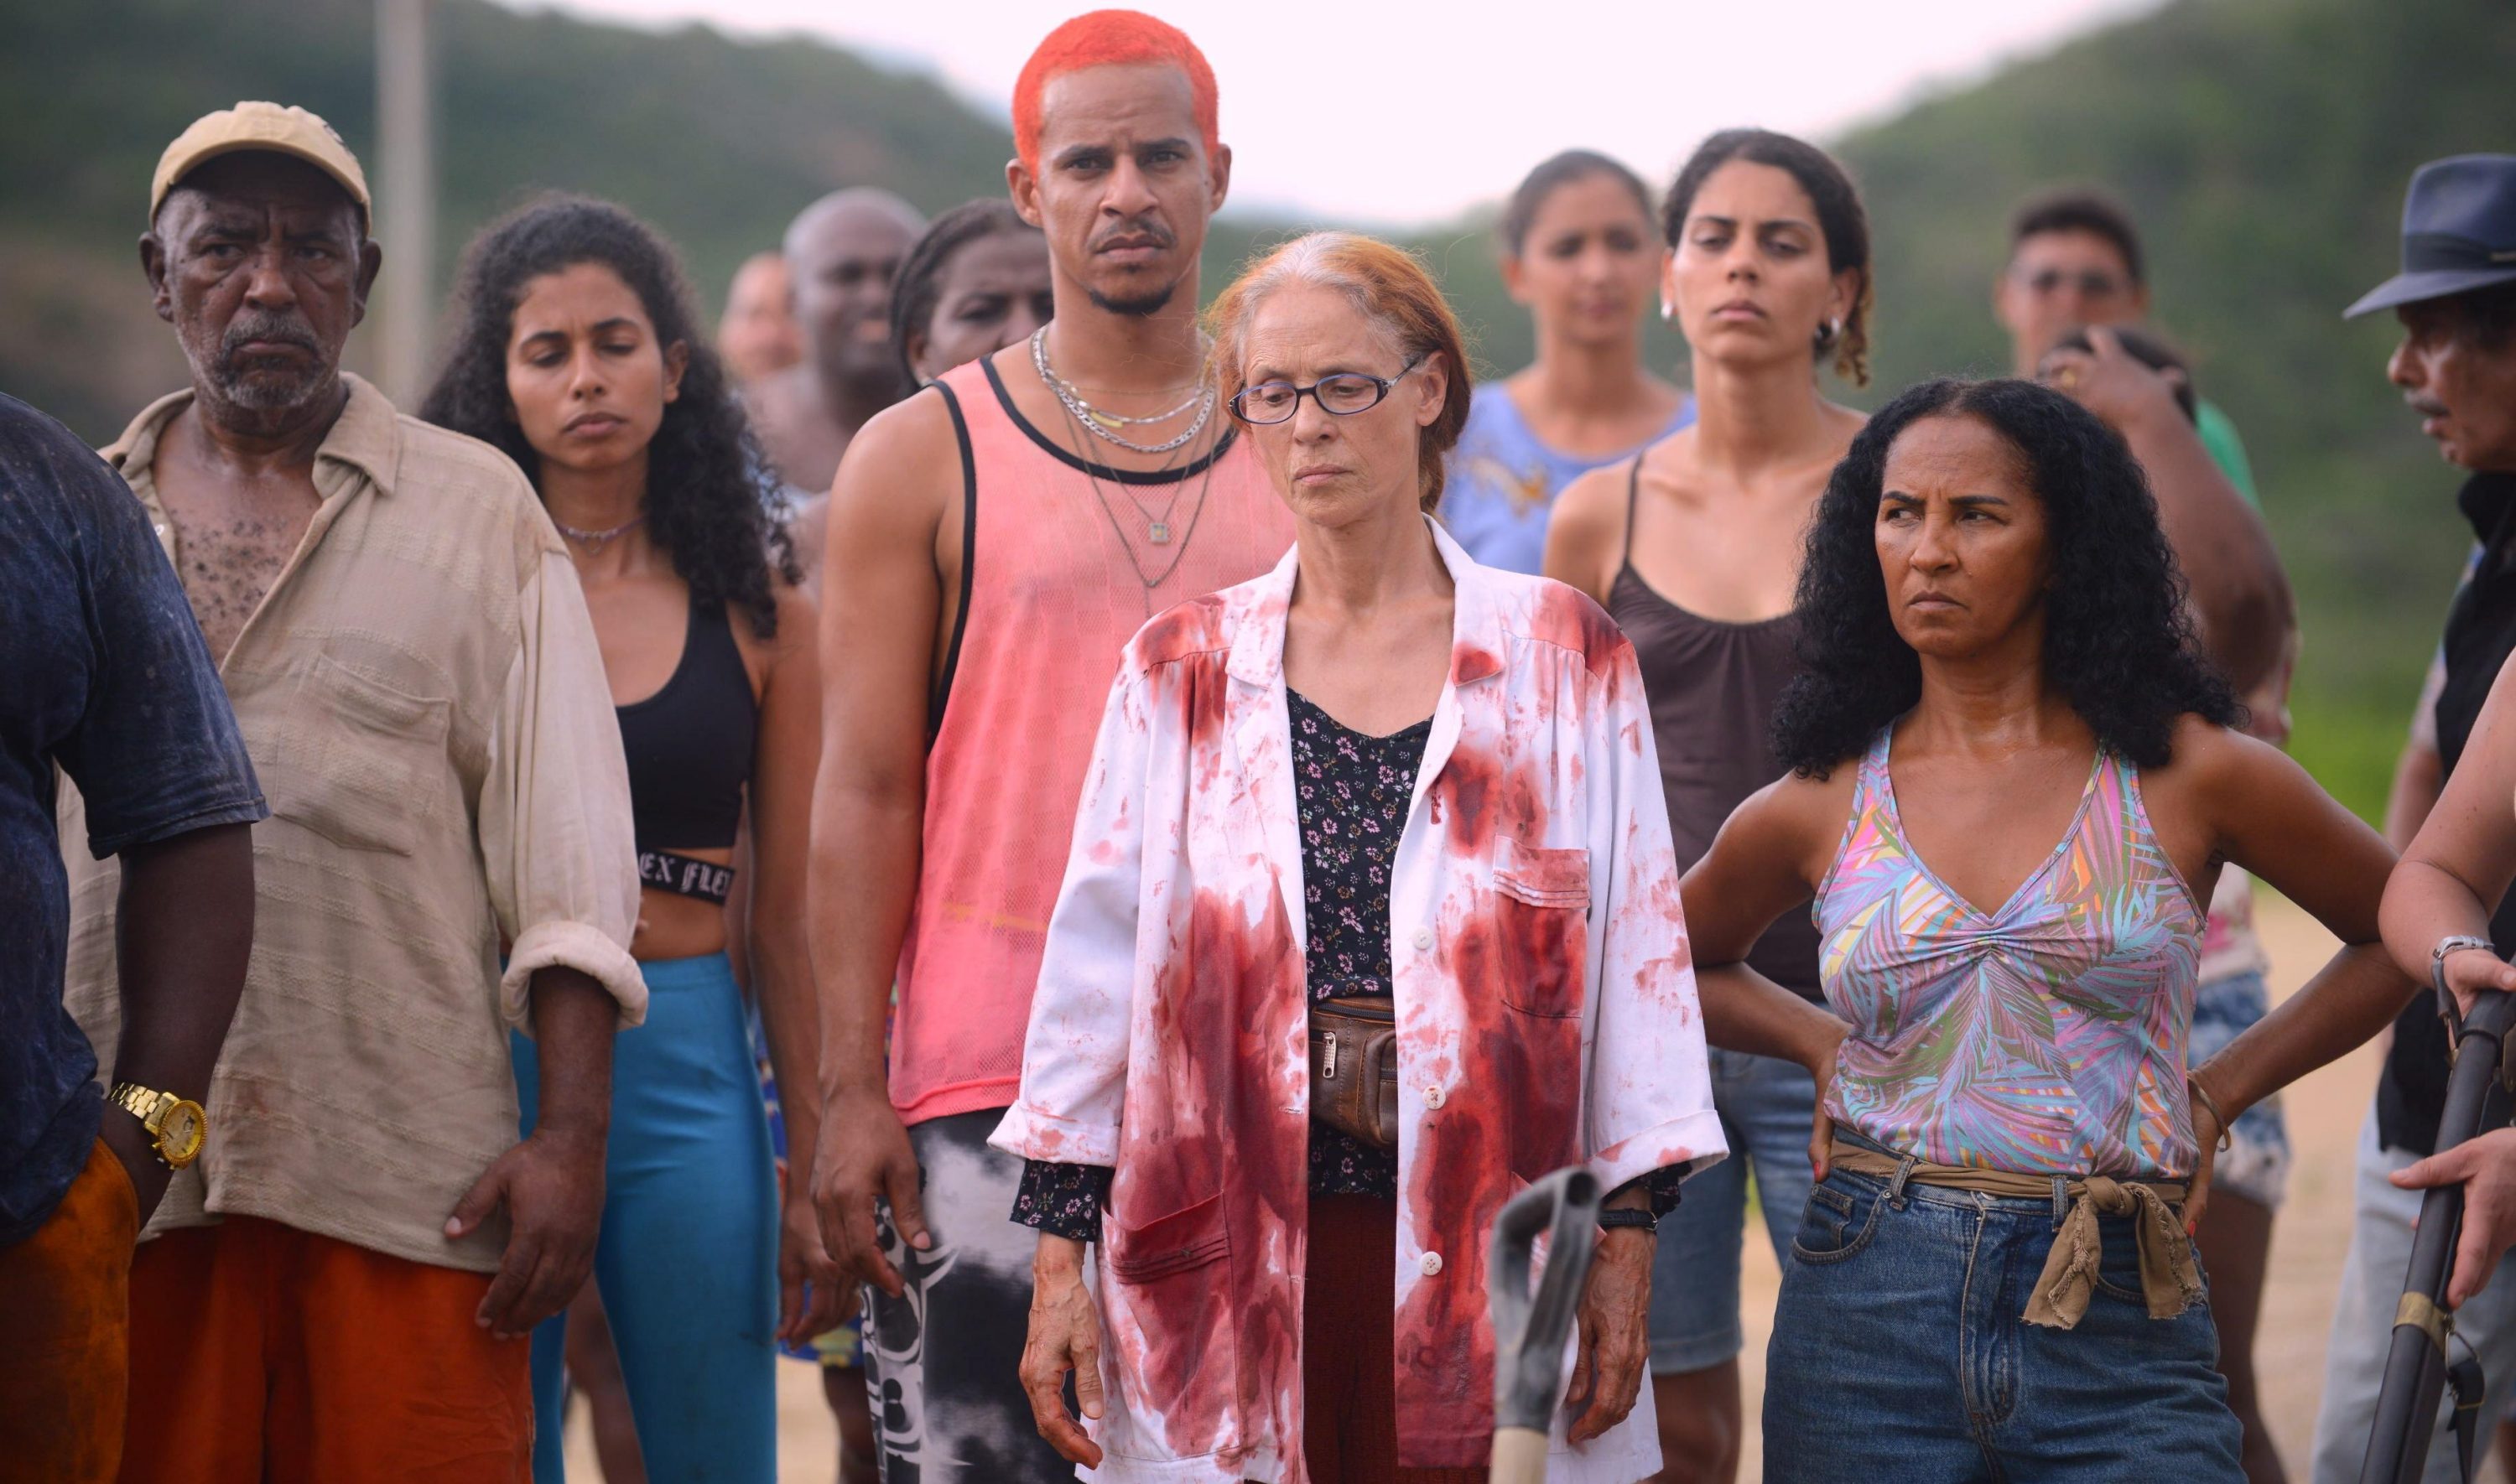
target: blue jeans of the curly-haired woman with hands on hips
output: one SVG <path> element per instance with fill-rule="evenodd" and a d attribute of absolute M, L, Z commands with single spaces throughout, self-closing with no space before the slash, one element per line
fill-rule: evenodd
<path fill-rule="evenodd" d="M 2020 1318 L 2063 1207 L 1837 1170 L 1766 1351 L 1769 1484 L 2161 1476 L 2244 1484 L 2209 1303 L 2149 1318 L 2131 1217 L 2076 1328 Z"/>

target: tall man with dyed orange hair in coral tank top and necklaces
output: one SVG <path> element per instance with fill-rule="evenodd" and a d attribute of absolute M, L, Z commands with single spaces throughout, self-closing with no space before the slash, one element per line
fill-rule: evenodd
<path fill-rule="evenodd" d="M 830 1255 L 873 1285 L 866 1368 L 893 1484 L 1072 1479 L 1019 1366 L 1037 1232 L 986 1137 L 1021 1039 L 1120 649 L 1293 543 L 1198 335 L 1230 184 L 1215 75 L 1135 10 L 1059 25 L 1014 88 L 1014 209 L 1054 319 L 876 415 L 830 493 L 813 963 Z M 883 1061 L 883 1009 L 898 1026 Z M 1084 1414 L 1097 1414 L 1097 1381 Z"/>

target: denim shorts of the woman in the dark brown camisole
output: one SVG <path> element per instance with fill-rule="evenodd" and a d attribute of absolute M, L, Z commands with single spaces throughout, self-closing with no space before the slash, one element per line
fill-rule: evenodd
<path fill-rule="evenodd" d="M 1746 1240 L 1746 1177 L 1774 1258 L 1791 1265 L 1791 1230 L 1809 1202 L 1809 1117 L 1817 1084 L 1796 1061 L 1711 1049 L 1713 1112 L 1728 1160 L 1686 1182 L 1661 1222 L 1650 1265 L 1650 1373 L 1718 1366 L 1746 1343 L 1739 1331 L 1739 1253 Z"/>

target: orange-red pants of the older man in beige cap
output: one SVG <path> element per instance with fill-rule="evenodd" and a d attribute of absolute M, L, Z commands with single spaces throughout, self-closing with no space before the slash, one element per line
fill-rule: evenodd
<path fill-rule="evenodd" d="M 128 1484 L 526 1484 L 528 1341 L 473 1323 L 488 1273 L 257 1217 L 131 1263 Z"/>

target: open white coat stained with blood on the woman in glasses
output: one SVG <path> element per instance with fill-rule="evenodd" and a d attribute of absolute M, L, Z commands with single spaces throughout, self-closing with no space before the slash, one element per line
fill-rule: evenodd
<path fill-rule="evenodd" d="M 1389 893 L 1399 1014 L 1401 1466 L 1482 1466 L 1487 1240 L 1522 1185 L 1726 1155 L 1633 646 L 1477 566 Z M 1308 1222 L 1301 828 L 1283 689 L 1298 551 L 1127 646 L 994 1144 L 1107 1165 L 1097 1479 L 1301 1484 Z M 1650 1406 L 1547 1479 L 1661 1464 Z"/>

